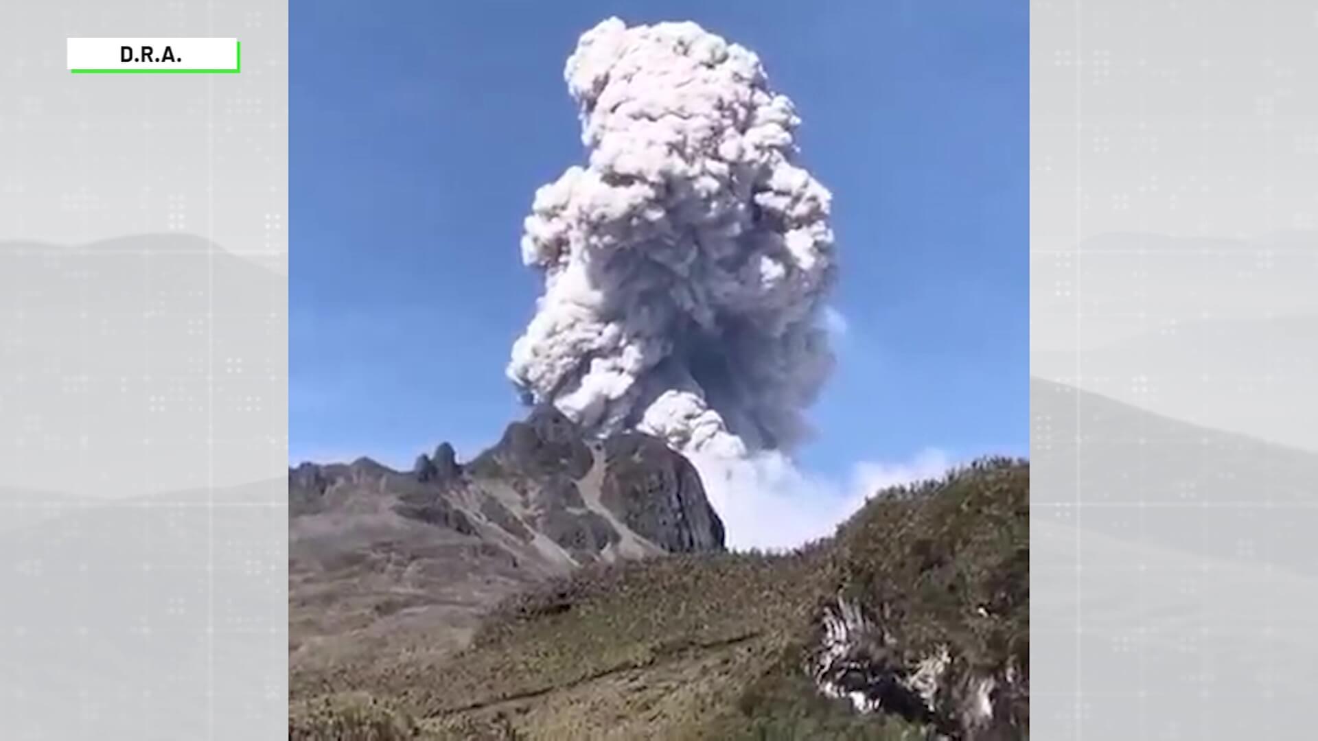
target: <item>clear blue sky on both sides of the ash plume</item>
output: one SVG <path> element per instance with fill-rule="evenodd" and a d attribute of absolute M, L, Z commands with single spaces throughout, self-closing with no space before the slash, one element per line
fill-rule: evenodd
<path fill-rule="evenodd" d="M 518 237 L 581 162 L 561 71 L 608 16 L 755 50 L 833 191 L 849 330 L 803 467 L 1028 450 L 1028 9 L 1016 3 L 291 7 L 290 458 L 469 455 L 539 285 Z"/>

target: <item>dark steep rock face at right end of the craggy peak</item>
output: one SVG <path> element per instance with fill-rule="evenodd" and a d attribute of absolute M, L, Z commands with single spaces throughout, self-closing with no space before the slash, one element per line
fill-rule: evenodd
<path fill-rule="evenodd" d="M 627 527 L 670 552 L 724 547 L 696 467 L 662 440 L 625 432 L 604 442 L 600 500 Z"/>

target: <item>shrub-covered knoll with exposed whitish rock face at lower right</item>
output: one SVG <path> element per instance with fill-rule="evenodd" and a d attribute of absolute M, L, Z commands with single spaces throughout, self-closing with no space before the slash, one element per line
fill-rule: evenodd
<path fill-rule="evenodd" d="M 807 670 L 934 738 L 1020 738 L 1029 708 L 1029 469 L 982 460 L 871 500 L 836 538 Z"/>

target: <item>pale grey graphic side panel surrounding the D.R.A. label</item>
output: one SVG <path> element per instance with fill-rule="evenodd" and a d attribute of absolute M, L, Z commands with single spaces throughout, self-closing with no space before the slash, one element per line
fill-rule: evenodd
<path fill-rule="evenodd" d="M 70 75 L 224 36 L 239 75 Z M 5 738 L 274 738 L 287 707 L 287 7 L 0 29 Z"/>

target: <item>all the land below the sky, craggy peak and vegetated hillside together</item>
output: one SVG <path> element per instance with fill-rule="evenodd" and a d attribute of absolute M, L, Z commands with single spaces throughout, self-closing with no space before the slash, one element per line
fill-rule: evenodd
<path fill-rule="evenodd" d="M 764 555 L 681 456 L 547 410 L 463 465 L 301 467 L 290 738 L 1028 737 L 1028 492 L 981 461 Z"/>

